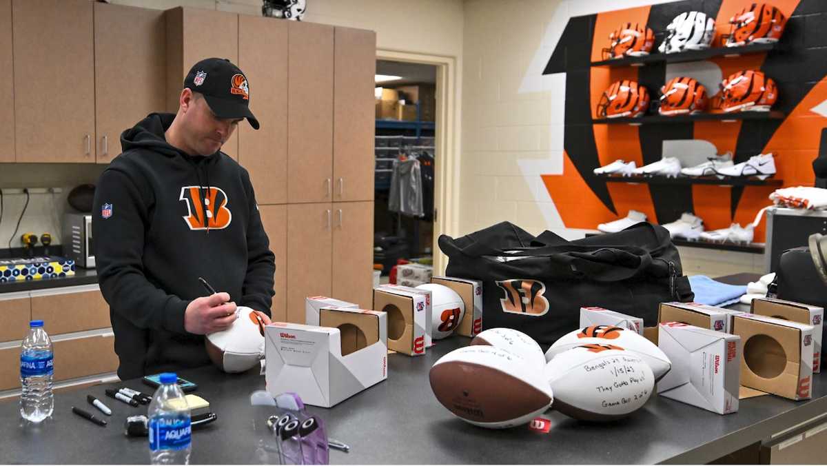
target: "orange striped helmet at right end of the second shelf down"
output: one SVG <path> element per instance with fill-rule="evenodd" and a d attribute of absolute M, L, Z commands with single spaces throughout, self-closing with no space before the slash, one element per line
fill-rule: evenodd
<path fill-rule="evenodd" d="M 725 113 L 768 112 L 778 99 L 778 88 L 761 71 L 739 71 L 721 83 L 721 98 Z"/>

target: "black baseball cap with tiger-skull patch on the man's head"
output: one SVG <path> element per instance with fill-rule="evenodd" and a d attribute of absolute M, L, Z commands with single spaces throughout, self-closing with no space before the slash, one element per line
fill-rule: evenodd
<path fill-rule="evenodd" d="M 201 60 L 189 70 L 184 88 L 203 94 L 210 110 L 218 118 L 246 118 L 253 129 L 258 129 L 256 117 L 250 111 L 250 84 L 236 65 L 226 58 Z"/>

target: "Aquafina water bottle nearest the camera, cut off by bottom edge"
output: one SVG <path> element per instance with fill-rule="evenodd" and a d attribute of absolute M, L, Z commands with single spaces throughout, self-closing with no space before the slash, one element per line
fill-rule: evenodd
<path fill-rule="evenodd" d="M 176 382 L 176 374 L 160 374 L 160 387 L 155 390 L 147 412 L 151 464 L 189 464 L 192 451 L 189 405 Z"/>

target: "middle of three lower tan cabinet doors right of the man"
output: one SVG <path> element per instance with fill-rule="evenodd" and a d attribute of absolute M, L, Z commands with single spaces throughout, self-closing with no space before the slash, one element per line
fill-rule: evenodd
<path fill-rule="evenodd" d="M 287 320 L 304 324 L 307 296 L 331 295 L 332 204 L 287 206 Z"/>

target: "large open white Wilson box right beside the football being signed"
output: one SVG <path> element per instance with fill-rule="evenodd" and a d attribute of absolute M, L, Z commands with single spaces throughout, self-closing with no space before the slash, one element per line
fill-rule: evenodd
<path fill-rule="evenodd" d="M 265 327 L 265 381 L 276 396 L 295 392 L 329 408 L 388 378 L 387 315 L 322 309 L 326 326 L 275 322 Z"/>

